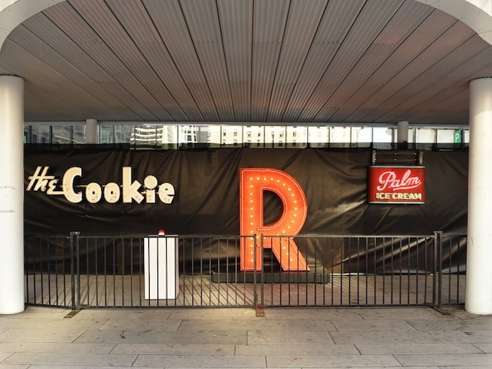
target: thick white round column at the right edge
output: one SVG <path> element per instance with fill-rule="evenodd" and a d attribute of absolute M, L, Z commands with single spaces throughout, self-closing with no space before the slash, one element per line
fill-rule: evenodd
<path fill-rule="evenodd" d="M 492 78 L 470 82 L 465 310 L 492 313 Z"/>

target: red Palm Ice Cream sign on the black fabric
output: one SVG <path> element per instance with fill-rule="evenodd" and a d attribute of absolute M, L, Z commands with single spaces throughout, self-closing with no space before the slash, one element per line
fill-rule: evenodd
<path fill-rule="evenodd" d="M 425 203 L 425 167 L 369 167 L 368 182 L 370 203 Z"/>

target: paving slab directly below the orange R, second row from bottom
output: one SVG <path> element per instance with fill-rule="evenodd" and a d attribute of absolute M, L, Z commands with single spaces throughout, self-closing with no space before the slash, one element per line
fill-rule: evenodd
<path fill-rule="evenodd" d="M 477 351 L 479 351 L 477 349 Z M 359 354 L 353 344 L 238 344 L 236 355 L 349 355 Z"/>

